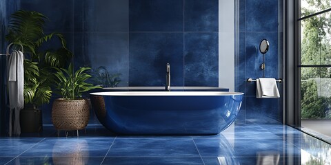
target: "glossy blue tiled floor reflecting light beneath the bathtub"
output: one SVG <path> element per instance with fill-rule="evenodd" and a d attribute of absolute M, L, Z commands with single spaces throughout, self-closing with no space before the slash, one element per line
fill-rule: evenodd
<path fill-rule="evenodd" d="M 89 126 L 80 134 L 57 137 L 46 127 L 43 137 L 1 137 L 0 164 L 331 164 L 329 144 L 283 125 L 205 136 L 117 136 Z"/>

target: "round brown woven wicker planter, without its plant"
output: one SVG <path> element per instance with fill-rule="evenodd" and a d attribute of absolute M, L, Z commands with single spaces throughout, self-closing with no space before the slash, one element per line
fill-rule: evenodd
<path fill-rule="evenodd" d="M 73 131 L 84 129 L 90 118 L 88 100 L 54 100 L 52 122 L 57 130 Z"/>

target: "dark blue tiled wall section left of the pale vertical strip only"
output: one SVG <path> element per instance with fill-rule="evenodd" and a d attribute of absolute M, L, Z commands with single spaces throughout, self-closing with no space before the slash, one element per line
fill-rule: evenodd
<path fill-rule="evenodd" d="M 66 36 L 75 68 L 104 66 L 121 74 L 118 86 L 163 86 L 166 63 L 172 86 L 218 86 L 218 0 L 21 0 L 21 9 Z"/>

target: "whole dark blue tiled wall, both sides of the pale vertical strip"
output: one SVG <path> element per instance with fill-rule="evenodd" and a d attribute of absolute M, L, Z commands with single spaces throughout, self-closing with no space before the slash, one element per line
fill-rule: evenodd
<path fill-rule="evenodd" d="M 263 74 L 261 39 L 270 41 L 265 76 L 281 78 L 281 1 L 237 0 L 235 91 L 245 92 L 239 122 L 281 122 L 281 99 L 257 99 L 255 84 L 245 81 Z M 46 31 L 66 36 L 76 68 L 105 66 L 121 74 L 119 86 L 162 86 L 165 63 L 172 86 L 218 86 L 217 0 L 21 0 L 21 9 L 50 18 Z M 51 104 L 44 124 L 51 124 Z"/>

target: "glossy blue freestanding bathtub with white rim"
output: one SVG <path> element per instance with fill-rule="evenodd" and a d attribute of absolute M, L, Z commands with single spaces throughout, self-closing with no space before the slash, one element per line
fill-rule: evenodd
<path fill-rule="evenodd" d="M 107 91 L 91 93 L 107 129 L 126 135 L 210 135 L 234 122 L 243 93 L 228 91 Z"/>

